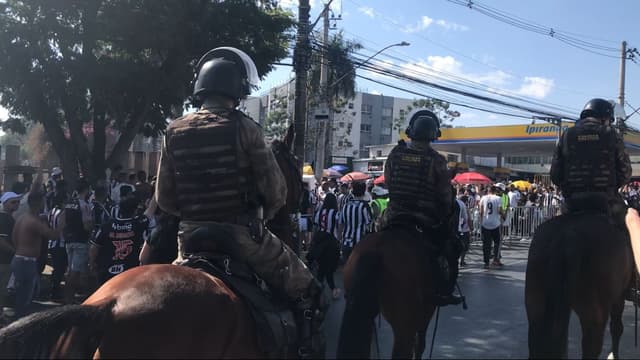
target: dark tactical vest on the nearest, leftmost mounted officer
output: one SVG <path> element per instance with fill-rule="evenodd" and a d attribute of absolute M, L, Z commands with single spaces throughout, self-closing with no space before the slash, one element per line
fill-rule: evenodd
<path fill-rule="evenodd" d="M 241 117 L 199 111 L 170 128 L 167 150 L 182 220 L 236 223 L 248 212 L 251 170 L 238 163 Z"/>

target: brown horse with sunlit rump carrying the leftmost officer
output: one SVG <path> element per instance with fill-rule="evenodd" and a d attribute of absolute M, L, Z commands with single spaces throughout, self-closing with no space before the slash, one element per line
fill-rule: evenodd
<path fill-rule="evenodd" d="M 290 152 L 276 152 L 286 156 Z M 297 176 L 289 167 L 282 171 Z M 266 356 L 247 305 L 225 283 L 165 264 L 128 270 L 82 305 L 32 314 L 0 330 L 0 357 L 8 358 Z"/>

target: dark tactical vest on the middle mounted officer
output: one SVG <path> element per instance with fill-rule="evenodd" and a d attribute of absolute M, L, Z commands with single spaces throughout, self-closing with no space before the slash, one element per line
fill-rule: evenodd
<path fill-rule="evenodd" d="M 398 143 L 387 159 L 391 161 L 391 178 L 387 183 L 392 204 L 429 217 L 442 217 L 435 201 L 433 160 L 432 154 L 410 149 L 404 141 Z"/>

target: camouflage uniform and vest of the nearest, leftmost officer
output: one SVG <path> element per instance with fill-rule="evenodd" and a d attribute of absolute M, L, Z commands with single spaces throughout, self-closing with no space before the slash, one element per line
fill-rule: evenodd
<path fill-rule="evenodd" d="M 309 288 L 313 276 L 307 267 L 264 228 L 285 204 L 287 188 L 252 119 L 221 106 L 175 120 L 156 186 L 158 206 L 181 218 L 181 255 L 229 254 L 292 299 Z M 206 236 L 198 236 L 202 229 Z"/>

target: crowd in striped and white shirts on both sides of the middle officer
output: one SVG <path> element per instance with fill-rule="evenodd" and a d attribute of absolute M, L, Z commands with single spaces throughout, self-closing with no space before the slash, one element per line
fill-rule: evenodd
<path fill-rule="evenodd" d="M 321 281 L 326 279 L 337 297 L 340 290 L 335 287 L 333 274 L 364 235 L 378 230 L 389 191 L 384 183 L 374 185 L 373 179 L 341 183 L 335 178 L 324 178 L 311 189 L 305 183 L 305 189 L 301 210 L 303 246 L 309 245 L 307 258 L 312 262 L 321 259 L 325 251 L 333 254 L 329 261 L 318 261 L 317 273 Z M 461 209 L 458 237 L 464 244 L 459 259 L 463 267 L 467 265 L 465 258 L 474 229 L 482 238 L 485 268 L 501 267 L 499 249 L 506 228 L 519 226 L 515 209 L 540 209 L 540 214 L 548 217 L 559 211 L 563 201 L 555 187 L 543 183 L 532 183 L 522 190 L 504 183 L 455 184 L 454 190 Z"/>

